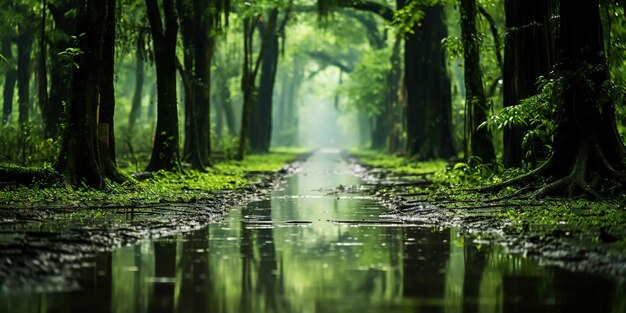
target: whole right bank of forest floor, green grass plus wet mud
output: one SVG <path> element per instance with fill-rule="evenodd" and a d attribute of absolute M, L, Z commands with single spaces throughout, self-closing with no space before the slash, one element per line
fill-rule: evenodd
<path fill-rule="evenodd" d="M 502 245 L 540 264 L 626 279 L 624 198 L 537 200 L 514 188 L 485 193 L 478 187 L 516 173 L 367 151 L 351 158 L 389 217 L 460 227 L 478 244 Z"/>

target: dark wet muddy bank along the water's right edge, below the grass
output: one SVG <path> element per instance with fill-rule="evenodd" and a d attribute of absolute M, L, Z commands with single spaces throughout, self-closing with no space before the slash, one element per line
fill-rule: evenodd
<path fill-rule="evenodd" d="M 370 193 L 387 208 L 385 216 L 423 225 L 456 227 L 474 242 L 506 247 L 508 253 L 542 265 L 626 281 L 626 253 L 623 247 L 612 244 L 626 237 L 626 225 L 609 232 L 567 223 L 513 223 L 506 217 L 507 210 L 549 209 L 549 201 L 558 199 L 531 200 L 518 197 L 519 193 L 504 197 L 485 193 L 462 200 L 445 195 L 433 200 L 436 192 L 415 193 L 413 188 L 431 186 L 428 174 L 392 173 L 364 166 L 353 157 L 350 164 L 366 181 Z"/>

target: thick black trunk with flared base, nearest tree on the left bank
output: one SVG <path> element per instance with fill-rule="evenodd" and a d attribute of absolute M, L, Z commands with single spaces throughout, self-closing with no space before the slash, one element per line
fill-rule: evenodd
<path fill-rule="evenodd" d="M 77 31 L 84 33 L 78 43 L 83 54 L 72 68 L 69 117 L 61 153 L 55 165 L 70 183 L 100 188 L 103 175 L 97 146 L 97 115 L 102 42 L 106 2 L 81 0 L 77 12 Z"/>

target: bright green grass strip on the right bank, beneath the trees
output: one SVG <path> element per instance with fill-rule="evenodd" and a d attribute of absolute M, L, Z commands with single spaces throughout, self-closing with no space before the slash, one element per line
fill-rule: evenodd
<path fill-rule="evenodd" d="M 465 163 L 446 164 L 443 161 L 415 162 L 373 151 L 355 151 L 353 155 L 365 165 L 392 174 L 432 173 L 427 176 L 432 182 L 430 185 L 403 187 L 401 190 L 389 188 L 384 192 L 419 195 L 421 201 L 450 208 L 460 215 L 471 215 L 475 208 L 495 205 L 489 209 L 493 218 L 505 219 L 519 229 L 533 225 L 547 231 L 557 227 L 592 232 L 602 230 L 616 234 L 616 241 L 612 244 L 626 252 L 624 195 L 618 199 L 591 201 L 563 198 L 536 200 L 526 197 L 524 192 L 515 188 L 506 188 L 498 193 L 483 193 L 478 191 L 478 187 L 517 176 L 521 170 L 470 166 Z"/>

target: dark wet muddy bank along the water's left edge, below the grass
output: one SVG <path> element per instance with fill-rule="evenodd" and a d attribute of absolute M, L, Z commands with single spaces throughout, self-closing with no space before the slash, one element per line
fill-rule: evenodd
<path fill-rule="evenodd" d="M 241 190 L 192 202 L 0 208 L 0 293 L 65 290 L 97 253 L 205 227 L 230 208 L 261 199 L 308 154 L 277 172 L 257 172 Z"/>

